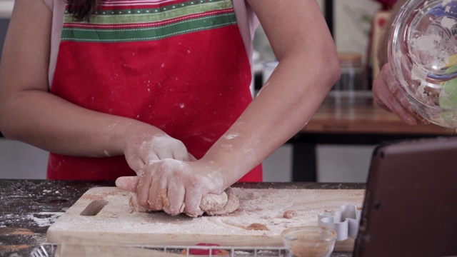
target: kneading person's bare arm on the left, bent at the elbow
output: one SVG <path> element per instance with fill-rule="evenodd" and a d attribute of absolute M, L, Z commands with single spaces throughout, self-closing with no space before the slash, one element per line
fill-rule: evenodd
<path fill-rule="evenodd" d="M 31 16 L 31 11 L 40 15 Z M 1 132 L 7 138 L 65 155 L 125 153 L 130 166 L 138 171 L 141 158 L 148 154 L 139 153 L 138 144 L 154 136 L 166 137 L 165 133 L 134 119 L 81 108 L 49 93 L 51 17 L 51 10 L 41 0 L 14 3 L 1 56 Z M 180 153 L 169 149 L 171 153 L 165 156 L 187 160 L 186 148 L 179 148 Z"/>

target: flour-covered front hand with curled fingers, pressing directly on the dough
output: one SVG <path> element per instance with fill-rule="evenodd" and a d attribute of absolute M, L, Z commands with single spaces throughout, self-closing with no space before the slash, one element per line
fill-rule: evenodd
<path fill-rule="evenodd" d="M 164 159 L 146 163 L 138 177 L 121 177 L 116 186 L 136 191 L 139 206 L 171 215 L 203 214 L 201 199 L 209 193 L 221 194 L 225 178 L 211 163 Z"/>

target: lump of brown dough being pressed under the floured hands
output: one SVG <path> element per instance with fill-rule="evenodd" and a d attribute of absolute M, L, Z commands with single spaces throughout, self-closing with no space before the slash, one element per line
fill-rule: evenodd
<path fill-rule="evenodd" d="M 130 212 L 139 211 L 146 212 L 151 211 L 148 208 L 139 206 L 136 201 L 136 194 L 131 193 L 129 197 Z M 204 213 L 208 215 L 224 215 L 233 213 L 240 205 L 238 196 L 233 192 L 232 188 L 226 188 L 226 191 L 220 195 L 209 193 L 203 199 L 201 199 L 200 208 Z M 181 208 L 181 213 L 184 211 L 184 206 Z"/>

